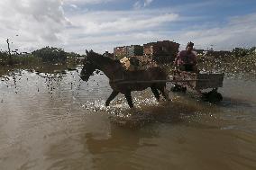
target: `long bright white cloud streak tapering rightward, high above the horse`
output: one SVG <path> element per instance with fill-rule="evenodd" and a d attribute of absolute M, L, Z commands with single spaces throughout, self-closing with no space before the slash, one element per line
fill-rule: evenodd
<path fill-rule="evenodd" d="M 109 16 L 108 20 L 102 21 L 102 18 L 98 18 L 102 15 Z M 133 14 L 127 15 L 126 12 L 115 14 L 112 12 L 105 12 L 101 14 L 87 13 L 87 16 L 88 17 L 78 15 L 70 17 L 72 24 L 76 26 L 76 28 L 81 28 L 84 34 L 149 30 L 153 27 L 158 27 L 163 23 L 178 20 L 178 14 L 176 13 L 158 13 L 156 16 L 134 16 Z"/>

